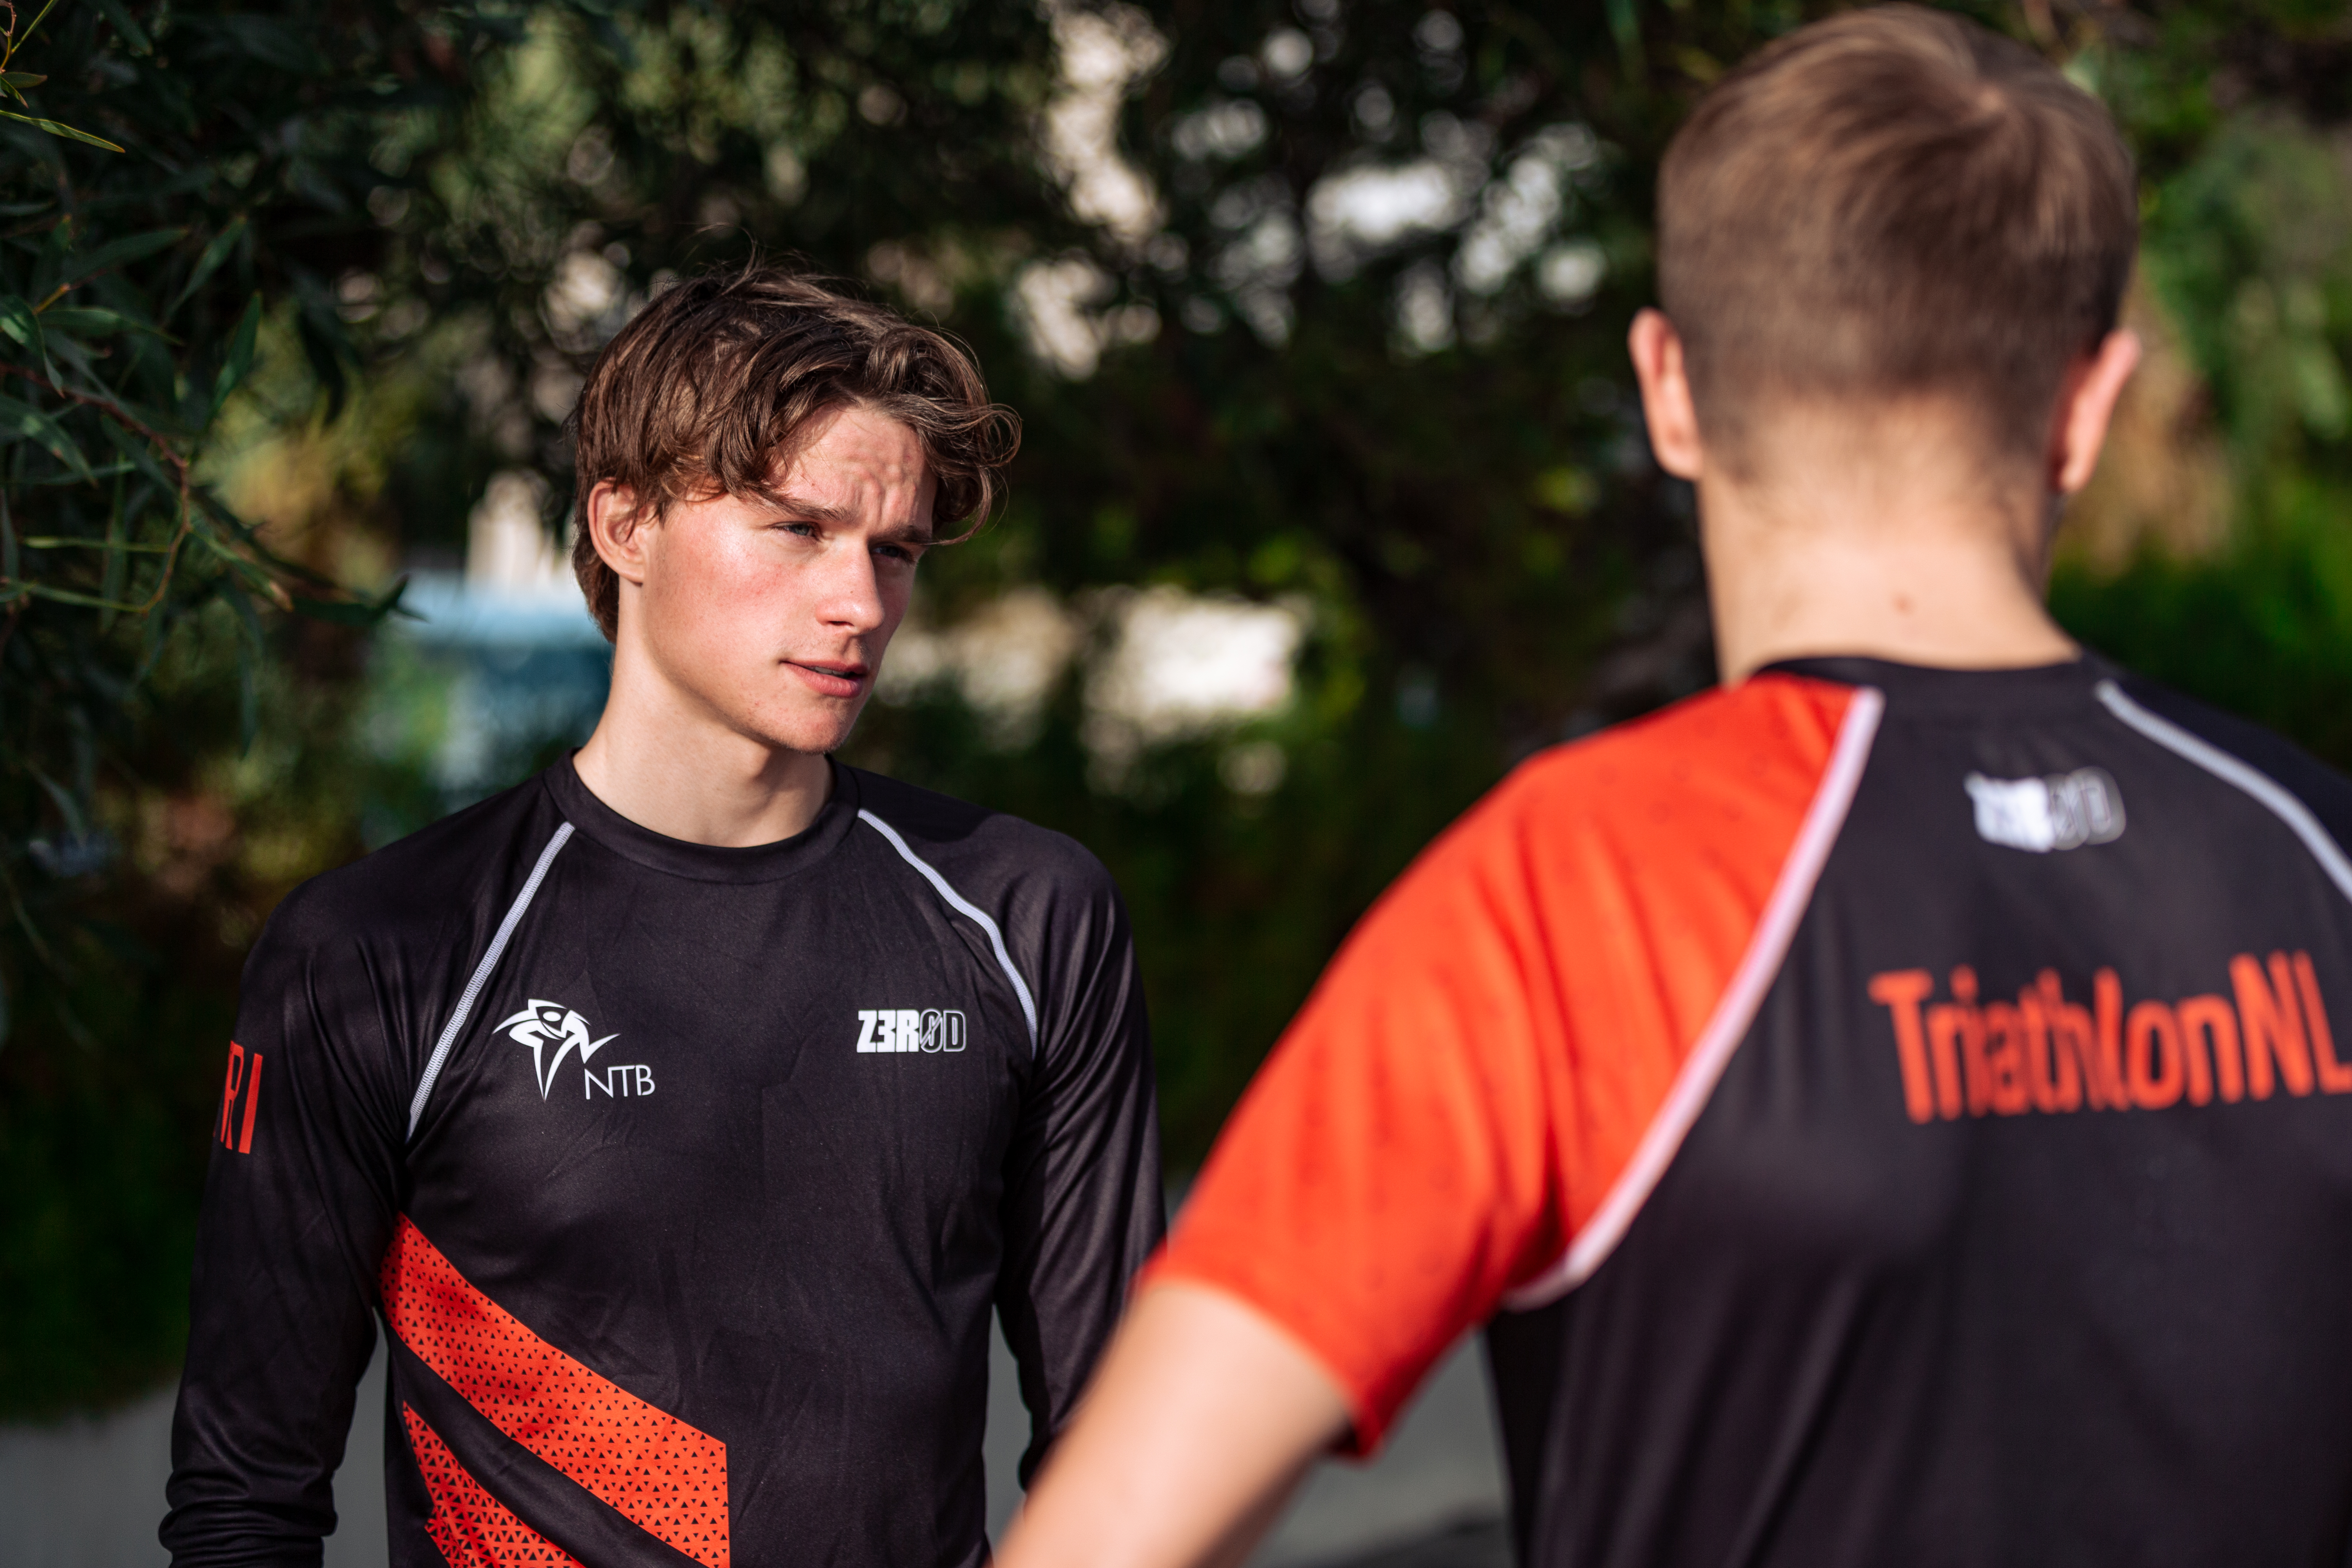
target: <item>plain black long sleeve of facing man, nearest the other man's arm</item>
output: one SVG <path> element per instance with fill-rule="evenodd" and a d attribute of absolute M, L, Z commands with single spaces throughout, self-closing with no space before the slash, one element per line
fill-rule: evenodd
<path fill-rule="evenodd" d="M 1070 1420 L 1167 1227 L 1143 980 L 1127 910 L 1091 856 L 1049 900 L 1033 973 L 1037 1067 L 1004 1164 L 997 1276 L 1030 1410 L 1021 1486 Z"/>

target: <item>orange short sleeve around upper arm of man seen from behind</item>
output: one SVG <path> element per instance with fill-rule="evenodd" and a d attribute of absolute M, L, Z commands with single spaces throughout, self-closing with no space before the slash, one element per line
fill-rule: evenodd
<path fill-rule="evenodd" d="M 1374 905 L 1148 1272 L 1235 1295 L 1308 1349 L 1348 1396 L 1352 1453 L 1564 1246 L 1548 964 L 1508 860 L 1456 827 Z"/>

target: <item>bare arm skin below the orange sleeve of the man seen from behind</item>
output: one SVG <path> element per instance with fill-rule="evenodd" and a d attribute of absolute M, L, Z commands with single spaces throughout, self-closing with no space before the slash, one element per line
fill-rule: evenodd
<path fill-rule="evenodd" d="M 1014 1523 L 1002 1568 L 1240 1563 L 1348 1429 L 1338 1382 L 1218 1291 L 1136 1300 Z"/>

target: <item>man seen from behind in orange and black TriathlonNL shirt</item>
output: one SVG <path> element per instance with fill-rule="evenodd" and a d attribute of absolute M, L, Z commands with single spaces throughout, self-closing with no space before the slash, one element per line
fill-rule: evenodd
<path fill-rule="evenodd" d="M 1364 919 L 1004 1568 L 1232 1561 L 1479 1324 L 1531 1568 L 2345 1561 L 2352 785 L 2042 609 L 2133 214 L 1957 19 L 1705 99 L 1632 357 L 1726 686 Z"/>

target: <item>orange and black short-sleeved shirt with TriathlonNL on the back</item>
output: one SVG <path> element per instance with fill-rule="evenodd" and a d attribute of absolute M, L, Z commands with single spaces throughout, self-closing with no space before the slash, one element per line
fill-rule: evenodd
<path fill-rule="evenodd" d="M 1491 1319 L 1531 1568 L 2345 1563 L 2347 837 L 2100 661 L 1778 665 L 1449 830 L 1152 1276 L 1367 1448 Z"/>

